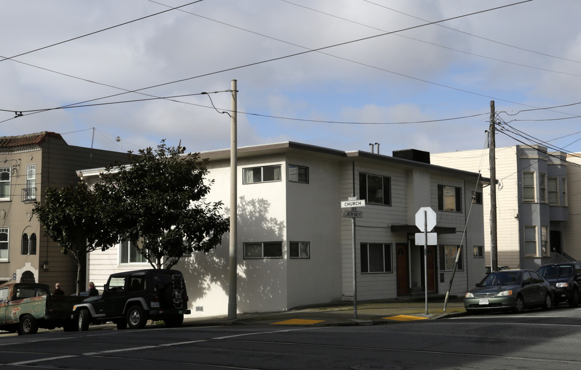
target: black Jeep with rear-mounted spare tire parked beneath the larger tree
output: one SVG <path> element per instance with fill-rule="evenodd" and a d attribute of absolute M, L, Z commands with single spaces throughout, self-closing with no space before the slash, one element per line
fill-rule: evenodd
<path fill-rule="evenodd" d="M 148 319 L 163 320 L 177 327 L 184 321 L 188 296 L 184 276 L 177 270 L 138 270 L 109 276 L 103 294 L 89 297 L 73 307 L 78 330 L 89 324 L 113 322 L 117 329 L 141 329 Z"/>

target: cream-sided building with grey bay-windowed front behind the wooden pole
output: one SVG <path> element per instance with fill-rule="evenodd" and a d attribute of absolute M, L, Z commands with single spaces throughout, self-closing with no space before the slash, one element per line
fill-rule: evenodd
<path fill-rule="evenodd" d="M 498 266 L 530 268 L 571 260 L 564 238 L 569 220 L 566 153 L 540 145 L 496 148 Z M 490 176 L 489 149 L 432 153 L 432 163 Z M 490 235 L 490 188 L 484 193 L 485 235 Z M 485 239 L 490 264 L 490 238 Z"/>

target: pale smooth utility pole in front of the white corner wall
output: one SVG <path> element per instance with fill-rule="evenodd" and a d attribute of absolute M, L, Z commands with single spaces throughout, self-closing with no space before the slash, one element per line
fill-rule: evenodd
<path fill-rule="evenodd" d="M 232 80 L 232 115 L 230 116 L 230 259 L 228 263 L 228 319 L 231 320 L 238 315 L 238 238 L 236 237 L 236 226 L 238 224 L 238 199 L 236 199 L 238 197 L 236 188 L 236 176 L 238 173 L 236 119 L 238 117 L 238 105 L 236 92 L 236 80 Z"/>

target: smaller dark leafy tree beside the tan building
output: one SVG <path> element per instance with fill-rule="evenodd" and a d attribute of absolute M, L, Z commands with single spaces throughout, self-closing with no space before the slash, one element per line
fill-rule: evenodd
<path fill-rule="evenodd" d="M 34 202 L 33 214 L 44 225 L 45 235 L 59 243 L 61 252 L 77 265 L 77 294 L 87 253 L 113 246 L 119 239 L 101 220 L 102 202 L 85 182 L 62 189 L 46 189 L 44 204 Z"/>

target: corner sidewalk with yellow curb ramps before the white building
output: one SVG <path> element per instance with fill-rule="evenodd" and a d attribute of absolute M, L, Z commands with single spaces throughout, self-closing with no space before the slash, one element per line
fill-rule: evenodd
<path fill-rule="evenodd" d="M 444 311 L 444 296 L 399 297 L 389 300 L 358 301 L 357 317 L 352 301 L 298 307 L 284 312 L 257 312 L 227 317 L 187 318 L 184 326 L 200 325 L 380 325 L 390 322 L 436 319 L 464 315 L 464 297 L 450 296 Z"/>

